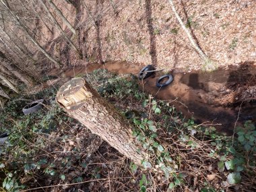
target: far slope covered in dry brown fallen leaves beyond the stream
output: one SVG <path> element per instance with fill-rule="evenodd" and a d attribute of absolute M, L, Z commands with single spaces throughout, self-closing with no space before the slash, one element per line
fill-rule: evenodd
<path fill-rule="evenodd" d="M 256 1 L 198 0 L 174 1 L 174 4 L 193 38 L 216 67 L 255 64 Z M 78 36 L 73 41 L 84 56 L 80 60 L 53 34 L 54 39 L 50 44 L 46 42 L 46 48 L 57 53 L 64 65 L 129 61 L 152 64 L 166 71 L 205 67 L 168 1 L 119 0 L 113 1 L 113 6 L 109 1 L 89 1 L 87 6 L 90 16 L 82 5 L 77 9 L 69 5 L 67 9 L 59 4 L 67 18 L 77 25 Z M 97 26 L 91 18 L 97 21 Z"/>

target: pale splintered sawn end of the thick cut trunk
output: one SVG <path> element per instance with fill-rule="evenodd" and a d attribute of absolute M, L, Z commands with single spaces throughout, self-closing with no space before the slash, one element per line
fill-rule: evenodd
<path fill-rule="evenodd" d="M 79 106 L 92 98 L 92 93 L 85 88 L 84 83 L 82 78 L 71 79 L 65 83 L 57 93 L 57 102 L 71 110 L 72 106 Z"/>

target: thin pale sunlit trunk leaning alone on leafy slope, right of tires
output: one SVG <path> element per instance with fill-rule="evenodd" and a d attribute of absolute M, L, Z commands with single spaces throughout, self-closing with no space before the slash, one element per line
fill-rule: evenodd
<path fill-rule="evenodd" d="M 193 48 L 195 49 L 195 51 L 197 51 L 197 53 L 200 55 L 200 57 L 204 60 L 207 61 L 208 57 L 203 53 L 203 51 L 201 51 L 201 49 L 199 48 L 199 46 L 196 44 L 195 40 L 193 39 L 193 37 L 191 36 L 189 30 L 187 30 L 185 24 L 183 24 L 183 21 L 181 20 L 181 17 L 179 16 L 179 14 L 177 13 L 175 7 L 174 7 L 174 3 L 172 0 L 168 0 L 171 7 L 172 7 L 172 11 L 175 15 L 175 17 L 177 18 L 177 20 L 179 21 L 179 23 L 181 24 L 181 28 L 183 28 L 183 30 L 185 31 L 185 33 L 187 34 L 187 37 L 189 38 L 189 41 L 191 42 Z"/>

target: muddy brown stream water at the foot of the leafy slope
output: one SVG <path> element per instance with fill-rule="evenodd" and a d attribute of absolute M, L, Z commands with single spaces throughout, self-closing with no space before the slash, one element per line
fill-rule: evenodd
<path fill-rule="evenodd" d="M 156 80 L 160 76 L 160 73 L 157 72 L 152 77 L 143 79 L 139 84 L 143 90 L 156 98 L 171 100 L 183 112 L 185 117 L 193 116 L 197 123 L 214 124 L 219 131 L 231 134 L 240 106 L 238 123 L 243 123 L 243 121 L 249 119 L 255 121 L 256 103 L 244 102 L 241 105 L 241 102 L 232 102 L 232 104 L 223 104 L 223 102 L 220 102 L 223 100 L 220 95 L 223 92 L 232 92 L 232 90 L 224 89 L 224 86 L 238 86 L 238 84 L 243 84 L 245 80 L 248 80 L 248 77 L 255 77 L 256 68 L 251 66 L 253 65 L 240 68 L 233 67 L 228 70 L 220 69 L 212 73 L 174 71 L 172 73 L 174 81 L 164 88 L 156 87 Z M 50 75 L 75 77 L 75 75 L 89 73 L 99 68 L 108 69 L 119 74 L 133 73 L 137 75 L 142 67 L 143 65 L 138 63 L 108 62 L 104 65 L 92 64 L 86 67 L 65 70 L 55 69 L 51 71 Z M 251 81 L 251 79 L 249 80 Z"/>

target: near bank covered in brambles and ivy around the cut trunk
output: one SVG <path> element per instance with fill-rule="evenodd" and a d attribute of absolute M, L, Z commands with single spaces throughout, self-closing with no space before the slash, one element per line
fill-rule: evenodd
<path fill-rule="evenodd" d="M 156 167 L 138 167 L 68 117 L 55 94 L 69 78 L 49 76 L 48 86 L 8 102 L 1 111 L 1 132 L 9 133 L 1 147 L 3 191 L 255 191 L 251 121 L 228 137 L 212 124 L 185 119 L 172 101 L 155 100 L 133 75 L 97 69 L 81 77 L 133 125 Z M 44 98 L 44 107 L 24 116 L 25 102 L 38 98 Z"/>

